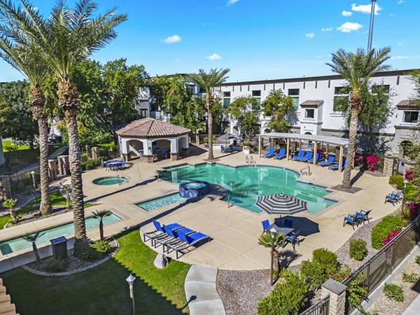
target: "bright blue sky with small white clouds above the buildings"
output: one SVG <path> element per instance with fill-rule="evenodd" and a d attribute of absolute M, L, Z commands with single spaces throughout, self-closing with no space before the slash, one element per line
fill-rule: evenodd
<path fill-rule="evenodd" d="M 97 0 L 128 20 L 92 58 L 126 57 L 151 76 L 230 68 L 229 81 L 328 75 L 338 48 L 366 48 L 370 0 Z M 52 1 L 33 0 L 48 15 Z M 68 1 L 69 4 L 73 1 Z M 393 69 L 420 67 L 419 0 L 377 0 L 373 46 Z M 22 78 L 0 62 L 0 81 Z"/>

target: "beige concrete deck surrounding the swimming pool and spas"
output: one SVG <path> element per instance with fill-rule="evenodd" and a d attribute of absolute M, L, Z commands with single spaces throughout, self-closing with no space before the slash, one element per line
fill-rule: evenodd
<path fill-rule="evenodd" d="M 192 147 L 194 150 L 194 147 Z M 197 150 L 195 148 L 195 150 Z M 221 154 L 215 150 L 218 162 L 227 165 L 245 165 L 246 157 L 243 153 Z M 154 211 L 144 211 L 135 204 L 162 197 L 169 193 L 176 193 L 178 186 L 166 181 L 157 181 L 156 176 L 162 167 L 171 167 L 183 163 L 199 164 L 207 158 L 207 152 L 202 152 L 189 158 L 172 162 L 163 160 L 153 164 L 146 164 L 141 161 L 134 161 L 127 169 L 118 172 L 120 176 L 126 176 L 129 183 L 121 186 L 97 186 L 92 183 L 94 179 L 103 176 L 116 176 L 117 172 L 106 172 L 105 169 L 94 169 L 83 174 L 85 200 L 98 203 L 95 207 L 86 209 L 86 216 L 97 209 L 110 209 L 123 220 L 104 226 L 106 235 L 113 235 L 127 228 L 141 225 L 141 231 L 153 230 L 151 219 L 157 218 L 161 223 L 180 223 L 193 230 L 204 232 L 212 240 L 194 251 L 183 255 L 179 260 L 192 265 L 202 265 L 219 269 L 265 269 L 269 268 L 269 248 L 258 244 L 258 237 L 262 232 L 261 221 L 269 219 L 274 221 L 274 216 L 265 212 L 255 214 L 252 211 L 236 206 L 228 207 L 227 202 L 215 198 L 203 198 L 197 202 L 172 204 Z M 290 160 L 272 160 L 258 158 L 253 155 L 258 165 L 274 165 L 287 167 L 297 172 L 306 164 L 292 162 Z M 311 176 L 301 176 L 300 180 L 318 183 L 323 186 L 336 186 L 342 181 L 342 173 L 332 172 L 326 167 L 311 167 Z M 342 227 L 343 217 L 349 213 L 363 209 L 372 209 L 373 220 L 391 214 L 397 206 L 384 204 L 385 195 L 393 188 L 388 184 L 388 177 L 374 177 L 369 174 L 358 174 L 355 170 L 352 177 L 358 177 L 354 186 L 362 188 L 356 194 L 334 191 L 327 197 L 339 200 L 331 207 L 319 212 L 309 214 L 308 212 L 295 215 L 296 223 L 293 228 L 305 230 L 305 226 L 299 225 L 299 218 L 307 218 L 318 223 L 320 232 L 301 237 L 300 246 L 293 251 L 290 244 L 281 253 L 282 258 L 287 258 L 290 265 L 296 265 L 304 259 L 311 257 L 315 248 L 326 247 L 336 251 L 353 234 L 351 226 Z M 33 223 L 18 225 L 17 227 L 0 230 L 0 240 L 10 239 L 36 230 L 42 230 L 51 226 L 68 223 L 72 220 L 72 214 L 62 214 L 52 218 L 46 218 Z M 310 232 L 310 231 L 307 231 Z M 88 236 L 97 239 L 98 229 L 88 231 Z M 309 233 L 308 233 L 309 234 Z M 150 245 L 150 241 L 146 244 Z M 156 251 L 162 251 L 161 247 Z M 30 251 L 28 251 L 29 253 Z M 4 270 L 2 265 L 8 265 L 9 258 L 18 260 L 21 253 L 0 256 L 0 271 Z M 174 257 L 174 253 L 170 256 Z M 16 265 L 17 262 L 13 265 Z M 10 268 L 9 268 L 10 269 Z"/>

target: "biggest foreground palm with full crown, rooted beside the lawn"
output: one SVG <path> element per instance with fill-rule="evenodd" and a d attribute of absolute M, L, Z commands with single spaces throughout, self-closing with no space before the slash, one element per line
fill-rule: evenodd
<path fill-rule="evenodd" d="M 80 141 L 77 127 L 78 90 L 72 75 L 81 60 L 103 48 L 116 38 L 116 27 L 127 20 L 127 15 L 118 15 L 111 8 L 103 15 L 93 17 L 97 3 L 92 0 L 78 0 L 74 10 L 65 1 L 57 1 L 48 20 L 27 0 L 20 0 L 21 6 L 11 1 L 0 0 L 4 11 L 3 20 L 15 25 L 31 41 L 36 43 L 41 62 L 58 81 L 58 105 L 64 111 L 69 135 L 69 164 L 74 216 L 74 255 L 79 255 L 88 245 L 83 204 L 83 181 Z"/>

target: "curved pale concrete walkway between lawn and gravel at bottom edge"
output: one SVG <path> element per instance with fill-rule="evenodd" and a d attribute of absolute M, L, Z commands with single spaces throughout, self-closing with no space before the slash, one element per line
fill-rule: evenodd
<path fill-rule="evenodd" d="M 191 315 L 225 315 L 216 290 L 217 269 L 193 265 L 186 276 L 185 290 Z"/>

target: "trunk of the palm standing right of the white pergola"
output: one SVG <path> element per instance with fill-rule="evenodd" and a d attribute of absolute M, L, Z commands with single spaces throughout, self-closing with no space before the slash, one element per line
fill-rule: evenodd
<path fill-rule="evenodd" d="M 358 124 L 358 114 L 360 109 L 360 102 L 353 100 L 355 97 L 351 97 L 351 116 L 350 116 L 350 126 L 349 126 L 349 147 L 347 148 L 346 155 L 346 166 L 344 167 L 344 176 L 343 176 L 343 187 L 351 188 L 351 169 L 353 168 L 354 162 L 354 153 L 356 153 L 356 136 L 357 136 L 357 124 Z"/>

